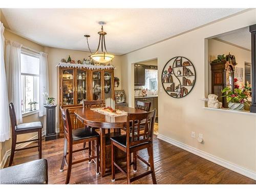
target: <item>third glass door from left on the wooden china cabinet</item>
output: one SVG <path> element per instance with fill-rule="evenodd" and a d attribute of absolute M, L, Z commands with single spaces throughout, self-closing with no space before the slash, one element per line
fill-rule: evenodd
<path fill-rule="evenodd" d="M 102 99 L 101 92 L 101 71 L 93 71 L 92 73 L 93 100 Z"/>

